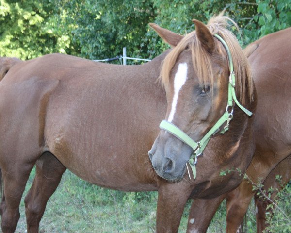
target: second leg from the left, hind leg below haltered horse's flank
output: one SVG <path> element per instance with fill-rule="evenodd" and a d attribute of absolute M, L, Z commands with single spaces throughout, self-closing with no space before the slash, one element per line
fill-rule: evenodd
<path fill-rule="evenodd" d="M 36 162 L 36 174 L 25 197 L 27 232 L 38 233 L 39 222 L 47 202 L 59 185 L 65 166 L 51 153 L 44 153 Z"/>

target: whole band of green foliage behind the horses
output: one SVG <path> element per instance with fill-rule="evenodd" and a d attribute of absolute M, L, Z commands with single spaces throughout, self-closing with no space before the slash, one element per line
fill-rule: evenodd
<path fill-rule="evenodd" d="M 291 25 L 289 0 L 0 0 L 0 56 L 103 59 L 127 47 L 129 56 L 153 58 L 169 46 L 149 22 L 185 34 L 192 18 L 206 23 L 222 10 L 241 27 L 243 46 Z"/>

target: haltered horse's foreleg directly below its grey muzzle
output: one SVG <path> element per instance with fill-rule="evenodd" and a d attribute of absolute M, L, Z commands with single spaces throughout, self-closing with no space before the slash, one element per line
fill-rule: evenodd
<path fill-rule="evenodd" d="M 161 184 L 161 183 L 160 183 Z M 157 233 L 178 232 L 186 202 L 191 194 L 189 183 L 159 184 L 157 206 Z"/>

